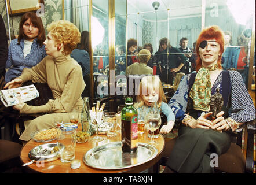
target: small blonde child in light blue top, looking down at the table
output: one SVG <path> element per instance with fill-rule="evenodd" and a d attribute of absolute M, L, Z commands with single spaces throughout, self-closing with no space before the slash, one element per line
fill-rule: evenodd
<path fill-rule="evenodd" d="M 163 92 L 162 82 L 158 76 L 144 76 L 140 82 L 140 89 L 137 95 L 135 107 L 141 110 L 149 111 L 153 99 L 158 99 L 157 106 L 160 112 L 167 117 L 167 124 L 160 129 L 161 134 L 168 134 L 175 124 L 175 116 L 171 108 L 166 103 L 166 97 Z"/>

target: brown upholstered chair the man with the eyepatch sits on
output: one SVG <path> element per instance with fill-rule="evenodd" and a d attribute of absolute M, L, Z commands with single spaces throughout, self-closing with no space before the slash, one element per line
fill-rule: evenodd
<path fill-rule="evenodd" d="M 231 146 L 225 154 L 222 154 L 218 158 L 218 167 L 215 167 L 216 173 L 253 173 L 253 166 L 255 164 L 255 161 L 253 161 L 255 120 L 244 124 L 243 129 L 245 133 L 248 132 L 248 134 L 245 134 L 247 139 L 244 138 L 244 140 L 247 140 L 247 145 L 246 143 L 244 144 L 244 146 L 247 146 L 246 157 L 244 157 L 241 149 L 243 131 L 237 134 L 232 133 Z M 163 157 L 158 162 L 158 164 L 156 164 L 158 168 L 155 167 L 155 172 L 159 173 L 159 165 L 166 166 L 167 160 L 171 151 L 173 150 L 176 139 L 177 138 L 174 138 L 166 142 L 166 147 L 163 151 Z"/>

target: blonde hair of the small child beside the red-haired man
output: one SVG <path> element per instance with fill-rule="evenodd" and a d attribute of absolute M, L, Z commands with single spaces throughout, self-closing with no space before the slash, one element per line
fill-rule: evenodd
<path fill-rule="evenodd" d="M 161 106 L 162 102 L 167 102 L 164 95 L 162 82 L 158 76 L 144 76 L 140 82 L 140 89 L 137 95 L 137 105 L 138 107 L 144 106 L 143 95 L 147 95 L 148 92 L 155 91 L 158 94 L 158 107 Z"/>

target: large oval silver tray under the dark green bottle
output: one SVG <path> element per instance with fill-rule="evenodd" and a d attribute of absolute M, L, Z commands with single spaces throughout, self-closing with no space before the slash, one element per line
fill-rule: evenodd
<path fill-rule="evenodd" d="M 123 153 L 121 142 L 107 143 L 85 153 L 83 162 L 98 169 L 125 169 L 150 161 L 158 149 L 147 143 L 138 143 L 136 153 Z"/>

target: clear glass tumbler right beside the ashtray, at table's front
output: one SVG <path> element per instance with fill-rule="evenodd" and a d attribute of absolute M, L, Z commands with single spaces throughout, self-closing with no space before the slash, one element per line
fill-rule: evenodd
<path fill-rule="evenodd" d="M 76 131 L 61 128 L 57 130 L 57 146 L 60 150 L 60 161 L 71 162 L 75 159 Z"/>

